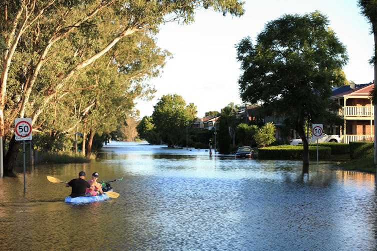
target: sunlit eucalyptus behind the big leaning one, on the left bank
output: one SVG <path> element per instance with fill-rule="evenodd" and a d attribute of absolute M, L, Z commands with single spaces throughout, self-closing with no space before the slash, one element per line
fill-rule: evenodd
<path fill-rule="evenodd" d="M 72 115 L 78 115 L 77 122 L 81 122 L 75 126 L 80 126 L 82 133 L 89 135 L 88 152 L 97 128 L 115 130 L 133 114 L 137 115 L 134 100 L 151 97 L 154 89 L 148 85 L 148 80 L 158 75 L 165 58 L 169 56 L 167 51 L 156 47 L 154 40 L 143 33 L 120 41 L 110 52 L 96 60 L 88 71 L 78 74 L 76 81 L 87 86 L 79 91 L 80 102 L 86 100 L 85 114 Z M 75 112 L 74 104 L 67 100 L 66 106 L 71 106 L 72 112 Z M 84 150 L 84 140 L 82 144 Z"/>

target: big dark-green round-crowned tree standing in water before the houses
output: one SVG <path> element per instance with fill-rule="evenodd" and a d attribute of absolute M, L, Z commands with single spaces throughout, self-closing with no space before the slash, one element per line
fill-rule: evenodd
<path fill-rule="evenodd" d="M 302 138 L 303 166 L 309 164 L 304 123 L 322 122 L 333 114 L 331 87 L 343 85 L 341 67 L 346 48 L 318 11 L 283 15 L 268 22 L 253 45 L 249 37 L 237 44 L 242 75 L 238 80 L 244 102 L 261 102 L 285 117 Z"/>

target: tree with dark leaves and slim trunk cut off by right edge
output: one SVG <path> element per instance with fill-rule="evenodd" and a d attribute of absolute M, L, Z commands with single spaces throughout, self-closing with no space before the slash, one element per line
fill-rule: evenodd
<path fill-rule="evenodd" d="M 375 0 L 358 0 L 361 13 L 368 19 L 371 24 L 371 32 L 374 38 L 374 53 L 370 63 L 374 66 L 374 88 L 371 92 L 371 99 L 374 105 L 374 164 L 377 165 L 377 65 L 375 58 L 377 56 L 377 1 Z"/>

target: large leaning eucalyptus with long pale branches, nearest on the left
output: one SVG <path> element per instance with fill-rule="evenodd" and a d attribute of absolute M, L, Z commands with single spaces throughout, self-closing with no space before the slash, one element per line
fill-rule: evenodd
<path fill-rule="evenodd" d="M 0 136 L 9 137 L 15 117 L 31 117 L 34 124 L 56 98 L 55 94 L 74 81 L 77 72 L 125 37 L 140 32 L 156 34 L 159 25 L 166 21 L 189 23 L 199 7 L 239 16 L 243 13 L 242 5 L 239 0 L 3 1 Z M 86 34 L 88 39 L 75 39 Z M 60 51 L 66 54 L 64 60 L 56 57 L 58 52 L 54 49 L 61 47 L 60 43 L 67 45 L 66 50 Z M 43 71 L 46 75 L 42 75 Z M 32 94 L 34 97 L 30 98 Z M 9 146 L 10 153 L 16 152 L 15 149 Z"/>

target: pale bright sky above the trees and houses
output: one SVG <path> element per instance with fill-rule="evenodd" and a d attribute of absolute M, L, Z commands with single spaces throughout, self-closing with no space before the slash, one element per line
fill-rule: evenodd
<path fill-rule="evenodd" d="M 241 17 L 198 10 L 188 25 L 167 23 L 157 34 L 157 46 L 172 53 L 160 77 L 150 80 L 157 90 L 151 101 L 135 100 L 140 118 L 151 116 L 162 95 L 178 94 L 187 105 L 194 103 L 197 117 L 219 111 L 229 103 L 242 104 L 238 78 L 242 74 L 235 45 L 244 37 L 255 39 L 264 25 L 284 14 L 315 10 L 326 15 L 329 27 L 347 48 L 346 78 L 356 84 L 373 81 L 368 63 L 373 53 L 370 24 L 360 14 L 357 0 L 245 0 Z"/>

